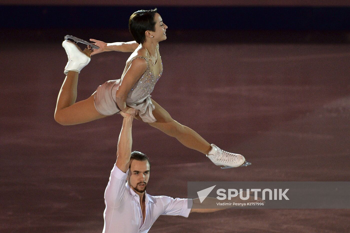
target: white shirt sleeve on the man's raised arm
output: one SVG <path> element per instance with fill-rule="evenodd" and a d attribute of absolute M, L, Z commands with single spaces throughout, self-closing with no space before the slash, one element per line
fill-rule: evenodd
<path fill-rule="evenodd" d="M 116 164 L 114 164 L 105 191 L 105 200 L 106 204 L 109 205 L 109 207 L 118 207 L 121 201 L 124 199 L 126 191 L 125 183 L 128 171 L 129 170 L 124 173 L 117 167 Z"/>

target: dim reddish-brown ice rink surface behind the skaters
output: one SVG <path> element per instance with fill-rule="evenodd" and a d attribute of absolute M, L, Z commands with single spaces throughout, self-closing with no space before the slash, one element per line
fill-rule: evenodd
<path fill-rule="evenodd" d="M 188 181 L 350 180 L 349 44 L 165 41 L 160 54 L 152 98 L 252 165 L 221 170 L 135 121 L 133 149 L 152 163 L 149 194 L 185 198 Z M 128 56 L 94 56 L 79 75 L 77 101 L 119 79 Z M 7 43 L 0 59 L 0 232 L 102 232 L 121 116 L 55 122 L 67 61 L 60 43 Z M 341 209 L 224 210 L 161 216 L 149 232 L 338 233 L 350 232 L 349 219 Z"/>

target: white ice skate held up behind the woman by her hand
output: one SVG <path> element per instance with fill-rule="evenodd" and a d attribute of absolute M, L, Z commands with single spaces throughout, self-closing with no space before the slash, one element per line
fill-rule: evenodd
<path fill-rule="evenodd" d="M 68 71 L 80 73 L 80 70 L 89 64 L 91 50 L 86 48 L 82 51 L 76 43 L 68 40 L 62 42 L 62 47 L 68 56 L 68 63 L 64 68 L 65 75 L 67 75 Z"/>

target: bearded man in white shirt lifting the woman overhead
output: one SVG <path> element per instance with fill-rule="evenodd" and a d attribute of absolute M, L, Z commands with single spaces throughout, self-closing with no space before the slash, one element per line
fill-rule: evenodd
<path fill-rule="evenodd" d="M 111 171 L 105 191 L 103 233 L 146 233 L 160 215 L 181 215 L 191 212 L 214 212 L 221 209 L 201 209 L 198 198 L 181 199 L 167 196 L 151 196 L 146 193 L 150 164 L 145 154 L 134 151 L 132 146 L 132 121 L 134 115 L 120 112 L 124 117 L 118 140 L 117 162 Z M 210 200 L 210 198 L 207 198 Z M 212 198 L 214 201 L 215 198 Z M 216 200 L 217 201 L 217 200 Z M 250 197 L 235 202 L 260 202 Z M 189 205 L 188 205 L 189 204 Z M 199 206 L 194 209 L 188 206 Z"/>

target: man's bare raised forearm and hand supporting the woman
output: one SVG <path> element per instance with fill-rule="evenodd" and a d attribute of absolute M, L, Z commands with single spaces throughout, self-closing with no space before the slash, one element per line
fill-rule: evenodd
<path fill-rule="evenodd" d="M 120 112 L 120 114 L 124 117 L 124 119 L 123 126 L 121 127 L 119 134 L 116 165 L 121 171 L 126 172 L 129 169 L 131 156 L 131 128 L 134 117 L 124 112 Z"/>

